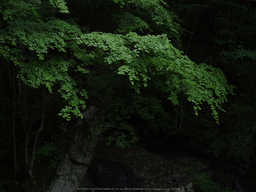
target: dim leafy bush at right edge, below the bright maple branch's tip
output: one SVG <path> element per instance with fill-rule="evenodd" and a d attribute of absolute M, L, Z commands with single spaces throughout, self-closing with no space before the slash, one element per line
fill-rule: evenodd
<path fill-rule="evenodd" d="M 251 103 L 252 104 L 252 103 Z M 230 103 L 227 116 L 233 127 L 208 129 L 204 134 L 210 147 L 208 152 L 218 156 L 222 150 L 228 150 L 228 155 L 248 159 L 253 153 L 255 143 L 254 106 L 244 106 L 241 100 Z"/>

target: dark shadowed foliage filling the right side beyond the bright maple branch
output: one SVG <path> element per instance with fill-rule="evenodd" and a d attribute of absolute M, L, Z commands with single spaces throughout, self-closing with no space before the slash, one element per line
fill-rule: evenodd
<path fill-rule="evenodd" d="M 248 159 L 255 153 L 256 41 L 252 38 L 256 31 L 255 2 L 166 2 L 169 3 L 170 10 L 176 12 L 182 21 L 180 25 L 188 32 L 183 37 L 184 46 L 189 44 L 189 36 L 193 35 L 193 46 L 188 45 L 191 48 L 189 57 L 218 66 L 225 73 L 229 83 L 236 86 L 234 93 L 237 96 L 230 97 L 231 102 L 223 108 L 227 113 L 221 112 L 222 120 L 219 121 L 219 126 L 212 124 L 212 115 L 208 109 L 204 110 L 204 105 L 200 105 L 204 109 L 199 118 L 191 116 L 192 118 L 187 120 L 195 122 L 196 127 L 200 126 L 200 132 L 192 139 L 196 138 L 195 143 L 202 143 L 202 148 L 209 146 L 206 151 L 216 156 Z M 208 41 L 206 36 L 211 36 L 212 41 Z M 205 43 L 202 45 L 203 41 Z M 204 46 L 210 49 L 204 49 Z M 203 59 L 199 59 L 200 57 Z M 188 135 L 192 133 L 189 129 L 185 131 Z M 194 129 L 193 133 L 196 131 Z"/>

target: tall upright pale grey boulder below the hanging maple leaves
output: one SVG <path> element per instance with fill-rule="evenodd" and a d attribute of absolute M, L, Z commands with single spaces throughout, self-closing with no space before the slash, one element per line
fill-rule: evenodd
<path fill-rule="evenodd" d="M 56 156 L 61 159 L 50 192 L 74 192 L 82 183 L 84 185 L 83 180 L 97 143 L 94 133 L 104 113 L 104 110 L 91 105 L 82 112 L 83 118 L 74 117 L 65 121 L 62 117 L 54 116 L 48 122 L 51 144 L 55 147 Z"/>

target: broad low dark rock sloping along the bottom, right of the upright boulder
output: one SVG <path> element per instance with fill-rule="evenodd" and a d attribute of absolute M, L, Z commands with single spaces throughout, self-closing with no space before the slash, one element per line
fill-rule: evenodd
<path fill-rule="evenodd" d="M 177 151 L 157 154 L 136 145 L 121 149 L 106 143 L 106 139 L 98 141 L 87 170 L 90 187 L 101 188 L 95 192 L 193 192 L 202 172 L 210 176 L 207 181 L 222 185 L 219 191 L 226 187 L 246 191 L 240 178 L 218 167 L 214 159 Z"/>

